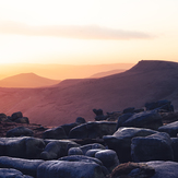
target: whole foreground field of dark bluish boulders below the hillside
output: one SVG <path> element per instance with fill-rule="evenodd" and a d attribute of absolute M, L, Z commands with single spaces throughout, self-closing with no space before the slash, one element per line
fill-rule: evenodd
<path fill-rule="evenodd" d="M 0 114 L 0 178 L 177 178 L 178 114 L 169 100 L 57 128 Z"/>

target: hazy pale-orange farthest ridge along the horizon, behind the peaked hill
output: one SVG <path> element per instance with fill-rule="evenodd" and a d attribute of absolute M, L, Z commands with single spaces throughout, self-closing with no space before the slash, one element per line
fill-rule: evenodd
<path fill-rule="evenodd" d="M 36 73 L 40 76 L 52 80 L 66 80 L 66 79 L 84 79 L 91 75 L 111 71 L 117 69 L 128 70 L 132 68 L 134 63 L 111 63 L 111 64 L 39 64 L 39 63 L 10 63 L 0 64 L 0 79 L 12 76 L 17 73 Z"/>

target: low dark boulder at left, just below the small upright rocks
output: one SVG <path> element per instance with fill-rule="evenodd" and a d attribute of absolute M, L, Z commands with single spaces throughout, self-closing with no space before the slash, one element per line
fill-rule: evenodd
<path fill-rule="evenodd" d="M 17 127 L 11 129 L 7 132 L 7 138 L 14 138 L 14 137 L 33 137 L 34 132 L 25 127 Z"/>

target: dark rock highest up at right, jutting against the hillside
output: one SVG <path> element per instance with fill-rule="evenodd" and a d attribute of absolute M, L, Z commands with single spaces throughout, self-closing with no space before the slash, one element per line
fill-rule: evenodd
<path fill-rule="evenodd" d="M 174 111 L 174 106 L 171 105 L 171 102 L 169 102 L 167 99 L 146 103 L 144 106 L 145 106 L 146 110 L 164 109 L 166 111 Z"/>

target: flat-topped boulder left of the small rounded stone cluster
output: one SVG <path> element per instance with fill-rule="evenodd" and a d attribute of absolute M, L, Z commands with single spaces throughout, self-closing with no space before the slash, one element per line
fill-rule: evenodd
<path fill-rule="evenodd" d="M 45 161 L 57 159 L 68 155 L 71 147 L 76 147 L 79 144 L 68 140 L 46 140 L 46 147 L 40 154 L 40 158 Z"/>

